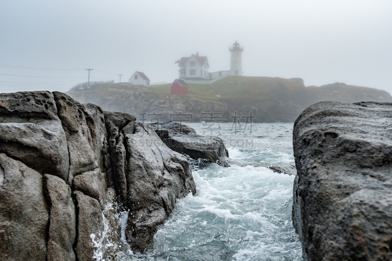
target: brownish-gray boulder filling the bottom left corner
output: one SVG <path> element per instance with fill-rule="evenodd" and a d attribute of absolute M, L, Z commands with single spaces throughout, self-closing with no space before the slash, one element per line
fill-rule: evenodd
<path fill-rule="evenodd" d="M 46 261 L 48 207 L 42 176 L 0 154 L 0 260 Z"/>

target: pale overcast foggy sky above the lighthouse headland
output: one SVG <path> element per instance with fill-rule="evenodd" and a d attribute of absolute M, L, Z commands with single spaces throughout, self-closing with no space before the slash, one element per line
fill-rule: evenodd
<path fill-rule="evenodd" d="M 86 68 L 93 81 L 172 82 L 196 51 L 229 70 L 238 41 L 246 76 L 392 93 L 391 14 L 391 0 L 1 0 L 0 91 L 65 92 Z"/>

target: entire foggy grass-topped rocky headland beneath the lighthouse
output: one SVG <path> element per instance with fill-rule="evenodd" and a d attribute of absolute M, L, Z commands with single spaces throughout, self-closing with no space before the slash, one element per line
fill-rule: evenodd
<path fill-rule="evenodd" d="M 91 88 L 85 86 L 83 90 L 75 86 L 67 94 L 81 103 L 97 104 L 105 111 L 124 112 L 147 122 L 157 118 L 170 121 L 180 112 L 192 115 L 184 119 L 194 122 L 209 121 L 203 114 L 210 112 L 220 115 L 215 119 L 223 122 L 232 122 L 235 115 L 249 116 L 250 112 L 253 122 L 294 122 L 304 109 L 319 101 L 392 102 L 386 91 L 338 82 L 305 86 L 300 78 L 229 76 L 212 84 L 189 84 L 188 95 L 171 95 L 170 84 L 147 87 L 97 82 Z"/>

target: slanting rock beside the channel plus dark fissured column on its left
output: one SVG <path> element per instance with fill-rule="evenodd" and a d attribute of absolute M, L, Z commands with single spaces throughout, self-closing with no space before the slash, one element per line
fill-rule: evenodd
<path fill-rule="evenodd" d="M 104 114 L 113 183 L 130 210 L 125 236 L 133 251 L 143 252 L 176 199 L 196 193 L 195 183 L 187 158 L 169 149 L 149 124 L 124 113 Z"/>

